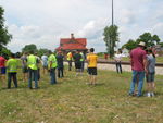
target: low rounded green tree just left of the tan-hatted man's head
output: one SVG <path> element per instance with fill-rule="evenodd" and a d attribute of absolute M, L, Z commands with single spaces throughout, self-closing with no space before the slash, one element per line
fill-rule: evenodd
<path fill-rule="evenodd" d="M 129 39 L 128 42 L 126 42 L 125 45 L 122 46 L 122 49 L 126 48 L 127 50 L 130 51 L 131 49 L 134 49 L 136 47 L 137 47 L 137 42 L 133 39 Z"/>

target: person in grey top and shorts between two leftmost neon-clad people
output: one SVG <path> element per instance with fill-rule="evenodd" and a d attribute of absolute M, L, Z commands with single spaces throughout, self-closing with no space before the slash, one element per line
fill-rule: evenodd
<path fill-rule="evenodd" d="M 23 81 L 26 82 L 28 78 L 28 69 L 27 69 L 27 53 L 24 52 L 21 57 L 22 60 L 22 72 L 23 72 Z"/>

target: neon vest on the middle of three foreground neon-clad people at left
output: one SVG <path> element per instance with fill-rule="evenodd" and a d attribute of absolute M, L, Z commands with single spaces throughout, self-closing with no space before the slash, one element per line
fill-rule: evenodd
<path fill-rule="evenodd" d="M 34 54 L 27 57 L 27 65 L 32 70 L 37 70 L 37 58 Z"/>

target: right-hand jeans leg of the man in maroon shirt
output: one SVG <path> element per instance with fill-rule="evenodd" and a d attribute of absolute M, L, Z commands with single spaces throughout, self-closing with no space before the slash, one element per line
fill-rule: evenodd
<path fill-rule="evenodd" d="M 143 78 L 145 78 L 145 72 L 138 72 L 139 74 L 139 84 L 138 84 L 138 95 L 137 96 L 141 96 L 142 95 L 142 87 L 143 87 Z"/>

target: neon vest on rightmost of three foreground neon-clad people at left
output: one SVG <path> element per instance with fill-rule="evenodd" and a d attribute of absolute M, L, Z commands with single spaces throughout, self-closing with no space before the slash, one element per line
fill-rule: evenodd
<path fill-rule="evenodd" d="M 50 63 L 52 62 L 52 65 L 50 67 Z M 48 67 L 49 69 L 53 69 L 53 67 L 57 67 L 58 66 L 58 63 L 57 63 L 57 58 L 54 54 L 50 54 L 49 58 L 48 58 Z"/>

